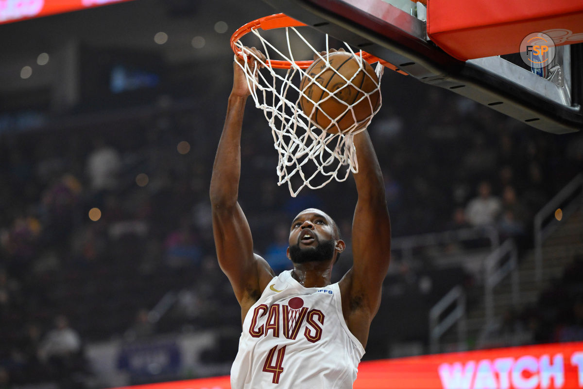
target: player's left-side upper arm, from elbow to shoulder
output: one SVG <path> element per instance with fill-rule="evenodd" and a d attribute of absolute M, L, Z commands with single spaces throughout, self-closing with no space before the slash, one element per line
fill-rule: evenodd
<path fill-rule="evenodd" d="M 260 281 L 269 276 L 269 269 L 253 253 L 251 229 L 238 204 L 213 209 L 212 215 L 217 259 L 241 303 L 261 290 Z"/>

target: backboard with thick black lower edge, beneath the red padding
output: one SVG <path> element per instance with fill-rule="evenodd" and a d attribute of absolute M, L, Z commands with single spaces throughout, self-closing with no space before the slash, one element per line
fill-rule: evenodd
<path fill-rule="evenodd" d="M 583 43 L 557 45 L 553 67 L 541 76 L 512 55 L 464 61 L 447 54 L 430 40 L 427 9 L 421 2 L 264 1 L 424 83 L 449 89 L 532 127 L 555 134 L 583 129 Z"/>

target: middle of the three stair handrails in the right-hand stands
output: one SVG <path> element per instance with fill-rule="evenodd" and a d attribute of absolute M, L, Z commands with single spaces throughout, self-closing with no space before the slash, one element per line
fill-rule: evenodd
<path fill-rule="evenodd" d="M 503 262 L 506 258 L 507 261 Z M 512 273 L 512 305 L 519 304 L 518 250 L 514 240 L 504 241 L 484 260 L 484 309 L 486 323 L 494 316 L 494 287 Z"/>

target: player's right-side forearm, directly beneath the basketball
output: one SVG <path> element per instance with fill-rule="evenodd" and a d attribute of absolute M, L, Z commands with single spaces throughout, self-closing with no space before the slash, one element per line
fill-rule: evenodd
<path fill-rule="evenodd" d="M 359 199 L 385 202 L 385 186 L 381 167 L 367 131 L 354 135 L 359 172 L 354 174 Z"/>

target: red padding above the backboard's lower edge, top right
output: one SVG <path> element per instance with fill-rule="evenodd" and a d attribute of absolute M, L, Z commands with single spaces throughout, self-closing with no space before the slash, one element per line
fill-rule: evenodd
<path fill-rule="evenodd" d="M 427 34 L 463 61 L 518 52 L 533 32 L 548 34 L 556 45 L 583 42 L 583 1 L 427 1 Z"/>

